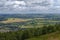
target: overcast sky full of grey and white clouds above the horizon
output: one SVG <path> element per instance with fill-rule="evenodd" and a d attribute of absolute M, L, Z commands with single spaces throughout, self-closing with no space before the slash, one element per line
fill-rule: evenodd
<path fill-rule="evenodd" d="M 60 13 L 60 0 L 0 0 L 0 13 Z"/>

